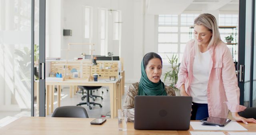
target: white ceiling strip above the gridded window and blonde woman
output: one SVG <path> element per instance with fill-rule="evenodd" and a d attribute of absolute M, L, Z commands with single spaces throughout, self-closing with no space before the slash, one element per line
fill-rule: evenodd
<path fill-rule="evenodd" d="M 181 14 L 184 11 L 238 12 L 239 0 L 146 0 L 147 14 Z"/>

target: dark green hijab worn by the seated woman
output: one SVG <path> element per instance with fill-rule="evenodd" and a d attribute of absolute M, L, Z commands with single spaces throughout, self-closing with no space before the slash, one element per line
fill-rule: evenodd
<path fill-rule="evenodd" d="M 154 52 L 150 52 L 143 57 L 143 60 L 141 61 L 141 66 L 140 66 L 141 77 L 140 77 L 138 95 L 167 95 L 165 91 L 164 83 L 161 80 L 159 80 L 158 83 L 153 83 L 148 79 L 148 76 L 146 73 L 146 66 L 148 65 L 148 62 L 153 58 L 160 59 L 162 64 L 162 58 Z"/>

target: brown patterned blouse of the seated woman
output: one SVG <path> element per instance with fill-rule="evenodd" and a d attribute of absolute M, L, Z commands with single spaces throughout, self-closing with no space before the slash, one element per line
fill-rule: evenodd
<path fill-rule="evenodd" d="M 134 121 L 134 97 L 138 95 L 139 82 L 132 83 L 127 91 L 124 106 L 122 108 L 127 109 L 127 120 Z M 168 96 L 175 96 L 174 89 L 165 85 L 165 90 Z"/>

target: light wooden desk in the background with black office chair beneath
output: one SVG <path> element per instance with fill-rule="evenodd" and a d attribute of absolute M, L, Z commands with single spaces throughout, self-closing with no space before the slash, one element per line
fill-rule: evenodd
<path fill-rule="evenodd" d="M 61 85 L 75 85 L 75 86 L 108 86 L 110 91 L 110 112 L 111 118 L 117 117 L 117 110 L 121 108 L 121 80 L 116 81 L 50 81 L 46 78 L 46 115 L 48 115 L 49 103 L 53 108 L 53 94 L 54 85 L 57 85 L 58 107 L 60 107 L 60 93 Z M 50 92 L 51 91 L 51 92 Z M 51 101 L 49 100 L 49 97 Z"/>

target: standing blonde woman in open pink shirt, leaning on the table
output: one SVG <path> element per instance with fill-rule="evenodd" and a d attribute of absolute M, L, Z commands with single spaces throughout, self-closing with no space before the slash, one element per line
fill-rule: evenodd
<path fill-rule="evenodd" d="M 194 20 L 194 39 L 186 44 L 176 87 L 183 96 L 192 96 L 191 120 L 208 116 L 256 123 L 238 115 L 246 107 L 239 105 L 238 88 L 232 55 L 220 39 L 216 19 L 200 14 Z"/>

